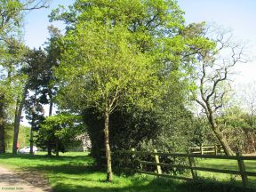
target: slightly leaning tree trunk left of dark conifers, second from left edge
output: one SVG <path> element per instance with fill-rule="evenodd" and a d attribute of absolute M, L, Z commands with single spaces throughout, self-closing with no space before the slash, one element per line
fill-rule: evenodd
<path fill-rule="evenodd" d="M 19 104 L 19 100 L 17 100 L 17 105 L 15 109 L 15 119 L 14 119 L 12 154 L 17 154 L 17 142 L 18 142 L 19 131 L 20 131 L 20 117 L 21 117 L 25 100 L 26 100 L 27 93 L 28 93 L 28 84 L 26 84 L 24 87 L 20 104 Z"/>

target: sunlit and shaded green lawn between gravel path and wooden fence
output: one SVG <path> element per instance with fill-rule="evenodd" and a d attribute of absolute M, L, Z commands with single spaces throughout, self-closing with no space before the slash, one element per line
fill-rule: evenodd
<path fill-rule="evenodd" d="M 36 156 L 11 154 L 0 155 L 0 164 L 22 172 L 44 174 L 56 192 L 71 191 L 148 191 L 148 192 L 221 192 L 221 191 L 248 191 L 234 187 L 234 182 L 218 182 L 199 180 L 197 182 L 183 182 L 180 180 L 157 179 L 145 175 L 115 175 L 113 183 L 105 182 L 106 173 L 95 170 L 92 157 L 84 153 L 65 153 L 60 157 L 45 156 L 39 153 Z M 198 162 L 208 164 L 207 161 Z M 210 164 L 210 163 L 209 163 Z M 219 164 L 218 162 L 216 164 Z M 254 166 L 255 167 L 255 166 Z M 205 176 L 205 175 L 204 175 Z M 33 177 L 33 176 L 32 176 Z M 253 191 L 253 190 L 250 190 Z"/>

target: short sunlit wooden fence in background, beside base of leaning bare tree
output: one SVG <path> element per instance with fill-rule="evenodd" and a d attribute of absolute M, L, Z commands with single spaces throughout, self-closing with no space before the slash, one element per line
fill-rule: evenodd
<path fill-rule="evenodd" d="M 188 148 L 189 153 L 191 154 L 212 154 L 212 155 L 221 155 L 224 153 L 223 148 L 220 145 L 214 145 L 214 146 L 204 146 L 201 145 L 200 147 L 192 147 Z"/>

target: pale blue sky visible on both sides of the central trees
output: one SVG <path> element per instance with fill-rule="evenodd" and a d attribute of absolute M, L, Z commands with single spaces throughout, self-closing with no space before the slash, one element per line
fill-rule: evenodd
<path fill-rule="evenodd" d="M 25 42 L 29 47 L 38 47 L 46 41 L 48 14 L 58 4 L 72 4 L 74 0 L 52 0 L 50 9 L 30 12 L 26 16 Z M 256 1 L 255 0 L 178 0 L 185 11 L 185 19 L 190 22 L 216 22 L 218 25 L 234 29 L 236 39 L 248 41 L 248 50 L 256 55 Z M 62 27 L 60 23 L 53 23 Z M 236 82 L 256 81 L 256 62 L 236 66 Z"/>

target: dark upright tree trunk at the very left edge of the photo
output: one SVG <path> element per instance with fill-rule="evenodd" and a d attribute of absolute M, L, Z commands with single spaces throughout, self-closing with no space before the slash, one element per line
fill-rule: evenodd
<path fill-rule="evenodd" d="M 5 153 L 4 139 L 4 95 L 0 97 L 0 153 Z"/>

